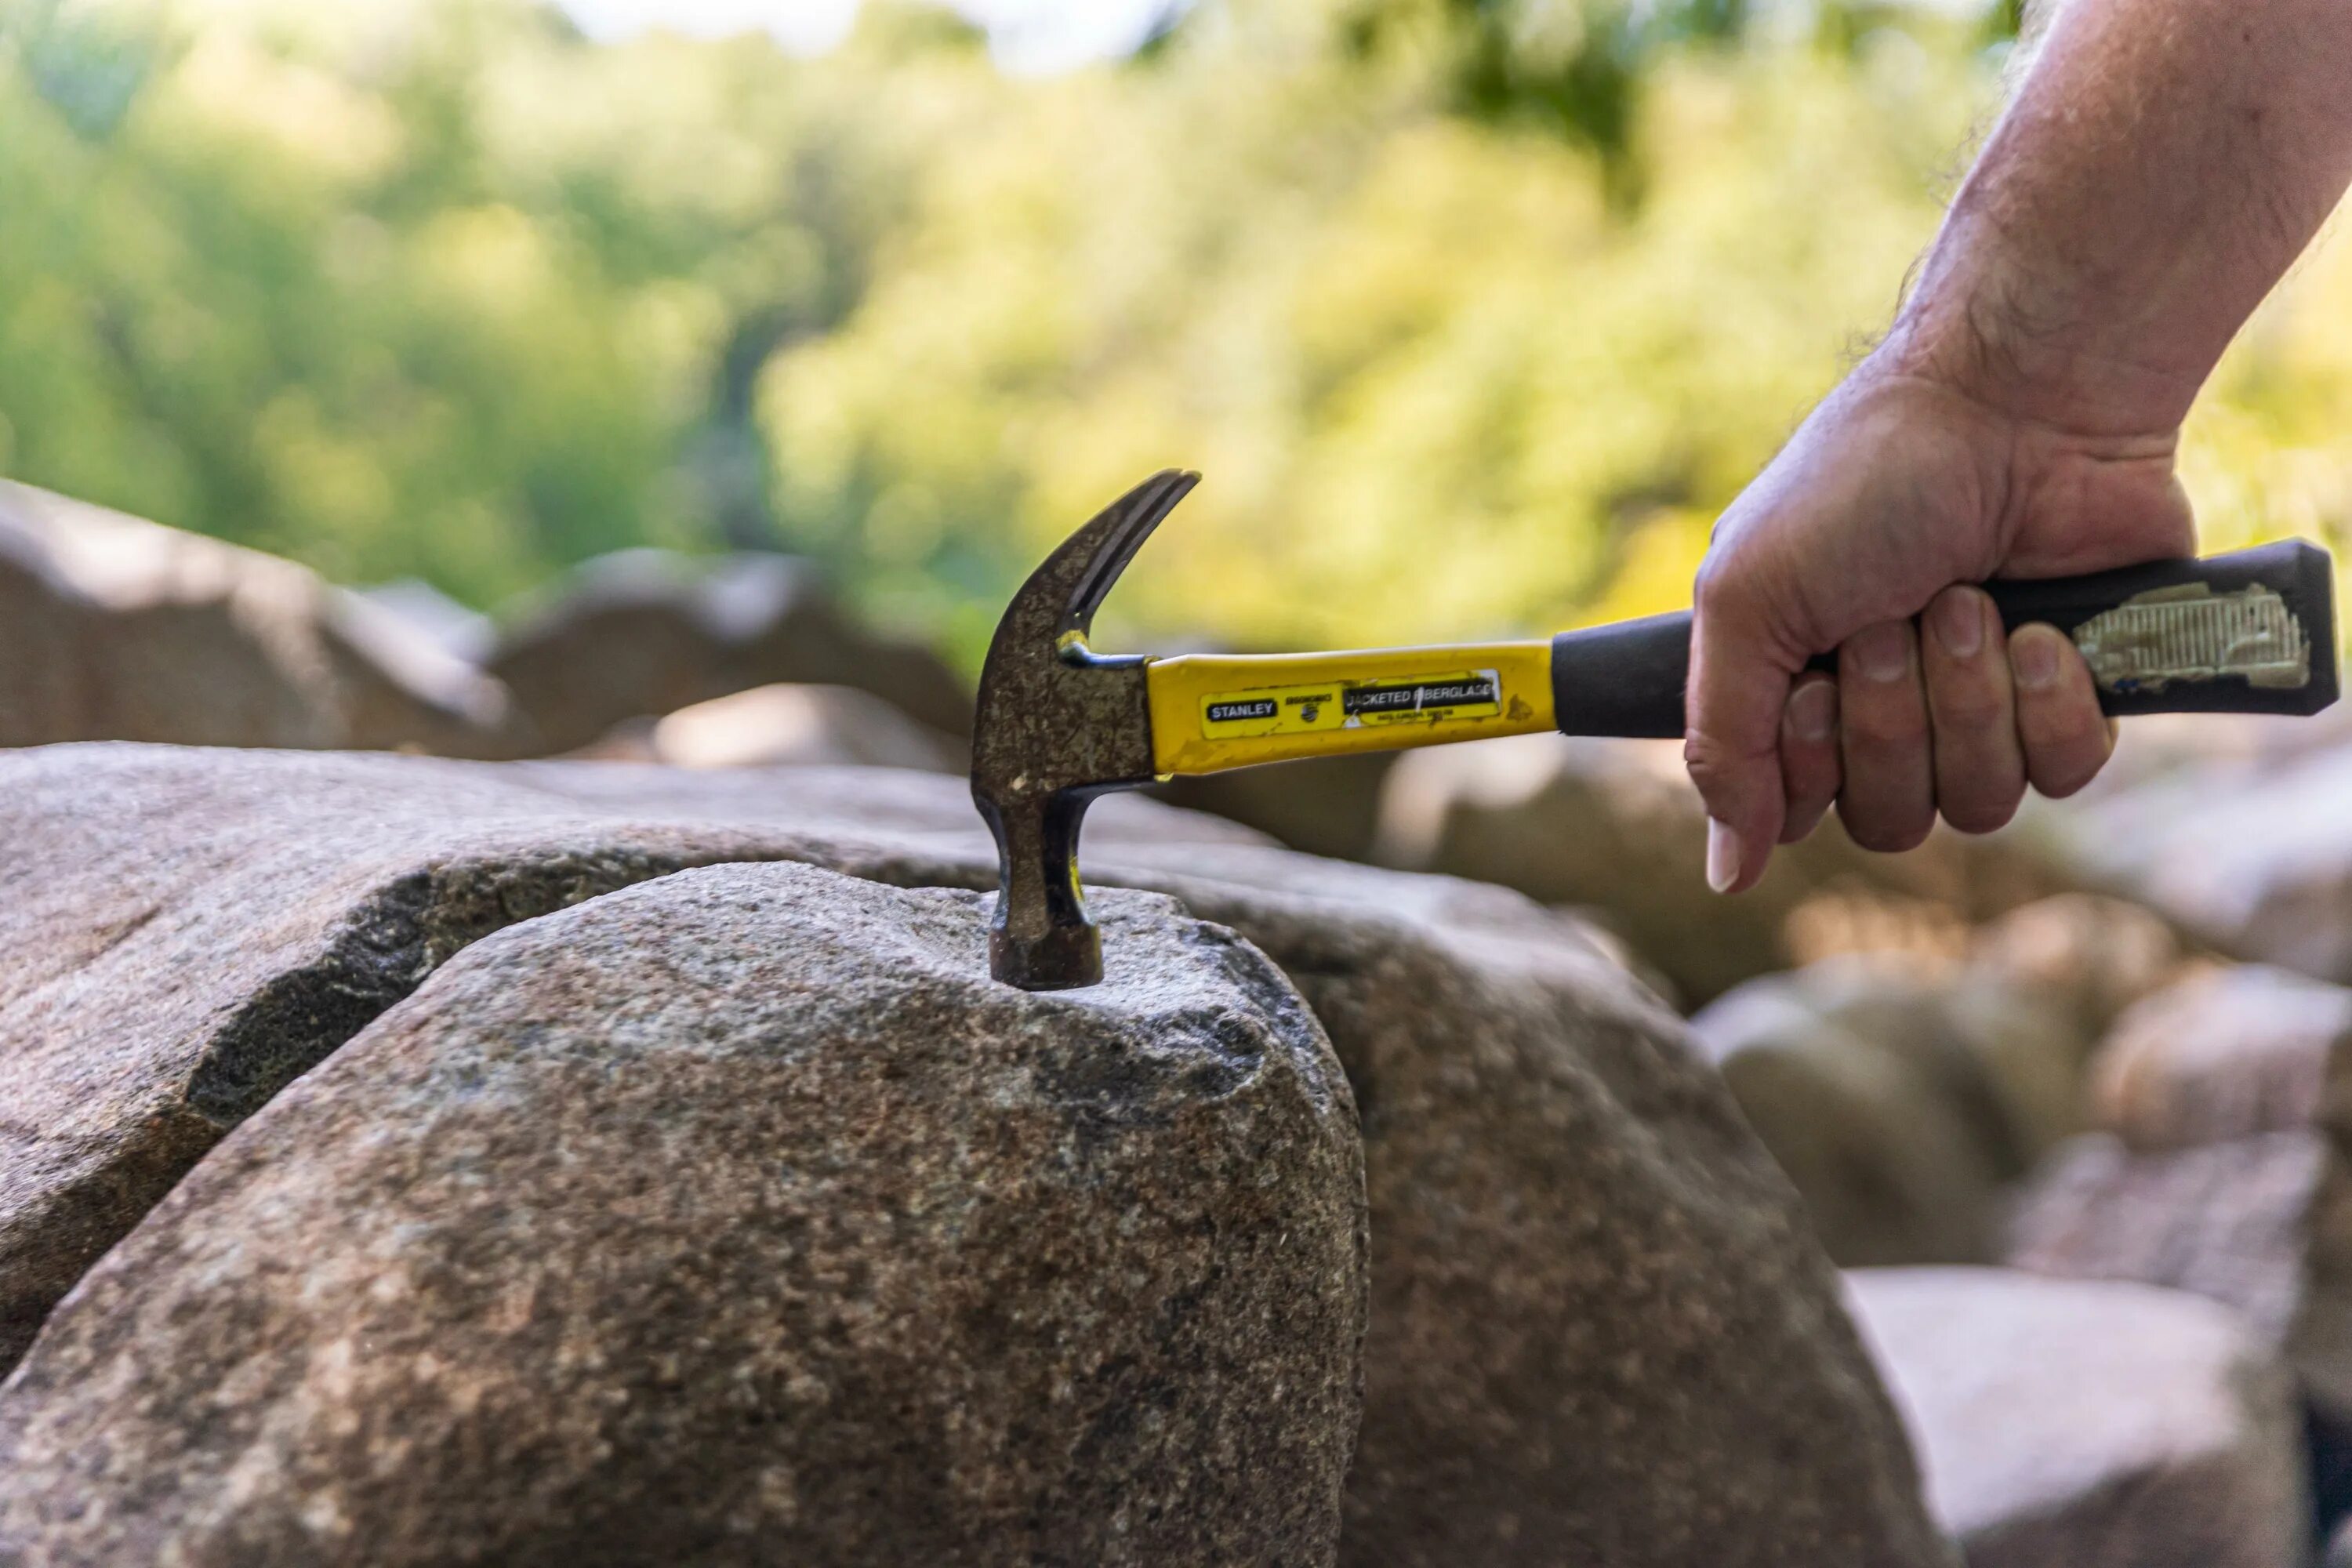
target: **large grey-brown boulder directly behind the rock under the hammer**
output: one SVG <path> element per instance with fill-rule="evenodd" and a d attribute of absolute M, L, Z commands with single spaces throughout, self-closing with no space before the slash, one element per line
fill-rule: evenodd
<path fill-rule="evenodd" d="M 1795 1192 L 1576 922 L 1096 811 L 1089 882 L 1258 945 L 1355 1088 L 1345 1561 L 1943 1561 Z M 0 1293 L 26 1328 L 228 1126 L 499 926 L 708 860 L 995 882 L 962 780 L 891 769 L 56 748 L 0 759 L 0 835 L 38 846 L 0 872 L 0 1063 L 31 1095 L 0 1124 Z"/>

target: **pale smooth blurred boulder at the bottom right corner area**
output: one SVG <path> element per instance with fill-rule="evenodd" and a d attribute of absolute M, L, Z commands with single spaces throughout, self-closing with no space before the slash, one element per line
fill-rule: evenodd
<path fill-rule="evenodd" d="M 2220 1307 L 2004 1269 L 1846 1286 L 1969 1568 L 2305 1561 L 2293 1392 Z"/>

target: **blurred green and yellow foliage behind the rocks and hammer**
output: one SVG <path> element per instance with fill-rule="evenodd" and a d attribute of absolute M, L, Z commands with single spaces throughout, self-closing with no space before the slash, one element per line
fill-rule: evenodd
<path fill-rule="evenodd" d="M 659 24 L 659 26 L 656 26 Z M 971 668 L 1209 475 L 1108 632 L 1686 602 L 1891 315 L 2009 7 L 0 2 L 0 473 L 496 609 L 816 557 Z M 2199 404 L 2209 545 L 2333 536 L 2352 263 Z"/>

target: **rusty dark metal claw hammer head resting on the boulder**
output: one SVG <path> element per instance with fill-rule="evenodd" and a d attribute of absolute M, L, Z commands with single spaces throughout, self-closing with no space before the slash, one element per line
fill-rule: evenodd
<path fill-rule="evenodd" d="M 1164 470 L 1134 487 L 1030 574 L 997 621 L 971 719 L 971 799 L 997 835 L 988 969 L 1021 990 L 1103 978 L 1103 936 L 1077 886 L 1087 802 L 1152 780 L 1143 658 L 1087 646 L 1094 611 L 1160 520 L 1200 484 Z"/>

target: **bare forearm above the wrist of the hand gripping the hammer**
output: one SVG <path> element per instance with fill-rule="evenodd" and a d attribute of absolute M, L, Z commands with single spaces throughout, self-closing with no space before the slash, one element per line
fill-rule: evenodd
<path fill-rule="evenodd" d="M 2082 435 L 2171 430 L 2352 181 L 2352 0 L 2070 0 L 1886 355 Z"/>

